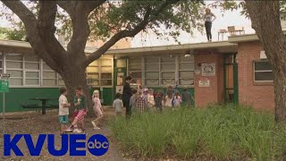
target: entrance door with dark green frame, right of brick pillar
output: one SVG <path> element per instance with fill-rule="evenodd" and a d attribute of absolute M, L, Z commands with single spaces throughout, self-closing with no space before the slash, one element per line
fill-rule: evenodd
<path fill-rule="evenodd" d="M 224 102 L 238 103 L 238 64 L 236 63 L 236 54 L 224 55 L 223 57 L 224 71 Z"/>

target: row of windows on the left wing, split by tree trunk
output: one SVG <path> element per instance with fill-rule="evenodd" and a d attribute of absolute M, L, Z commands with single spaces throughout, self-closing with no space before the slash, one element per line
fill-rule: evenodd
<path fill-rule="evenodd" d="M 5 62 L 4 62 L 5 61 Z M 114 60 L 104 56 L 86 69 L 88 85 L 113 86 Z M 10 85 L 28 87 L 64 86 L 63 78 L 51 69 L 38 55 L 0 53 L 0 73 L 11 75 Z"/>

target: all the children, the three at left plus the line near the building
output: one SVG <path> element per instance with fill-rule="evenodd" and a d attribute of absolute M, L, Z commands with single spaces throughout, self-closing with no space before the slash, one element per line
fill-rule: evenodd
<path fill-rule="evenodd" d="M 68 102 L 66 97 L 67 89 L 60 89 L 61 96 L 59 97 L 59 121 L 61 123 L 61 134 L 65 132 L 77 132 L 77 133 L 86 133 L 84 125 L 84 117 L 88 113 L 88 99 L 83 93 L 81 87 L 75 89 L 75 96 L 73 97 L 73 105 L 76 107 L 73 112 L 73 121 L 70 127 L 67 127 L 69 123 L 69 108 L 71 103 Z M 153 89 L 142 89 L 138 85 L 138 89 L 131 89 L 132 96 L 130 97 L 130 107 L 131 111 L 142 114 L 147 110 L 156 109 L 162 111 L 163 107 L 170 107 L 176 109 L 182 106 L 190 106 L 191 100 L 193 97 L 188 92 L 187 88 L 184 88 L 184 91 L 179 93 L 178 90 L 174 89 L 172 86 L 169 86 L 166 89 L 166 95 L 164 92 L 159 90 L 156 94 Z M 94 129 L 100 129 L 97 124 L 100 119 L 104 116 L 103 106 L 101 105 L 99 99 L 99 91 L 95 90 L 92 95 L 93 101 L 93 110 L 97 115 L 97 119 L 93 120 L 91 123 L 94 126 Z M 114 100 L 114 109 L 117 115 L 122 114 L 123 102 L 121 99 L 121 94 L 116 94 L 116 99 Z"/>

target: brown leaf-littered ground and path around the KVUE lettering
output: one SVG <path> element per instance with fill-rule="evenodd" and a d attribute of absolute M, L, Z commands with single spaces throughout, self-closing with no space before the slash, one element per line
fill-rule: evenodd
<path fill-rule="evenodd" d="M 29 114 L 14 114 L 7 116 L 6 120 L 5 133 L 16 134 L 16 133 L 30 133 L 32 134 L 33 140 L 37 140 L 37 136 L 39 133 L 54 133 L 56 138 L 56 146 L 61 148 L 59 142 L 61 142 L 61 138 L 59 135 L 59 123 L 58 123 L 58 115 L 54 112 L 48 112 L 46 115 L 41 115 L 38 113 L 29 113 Z M 63 157 L 53 157 L 48 154 L 46 147 L 46 143 L 44 144 L 44 148 L 42 149 L 40 157 L 29 157 L 29 151 L 26 145 L 22 140 L 18 142 L 18 147 L 21 148 L 21 151 L 24 153 L 25 157 L 3 157 L 3 136 L 1 135 L 0 140 L 0 160 L 19 160 L 19 161 L 38 161 L 38 160 L 75 160 L 75 161 L 92 161 L 92 160 L 106 160 L 106 161 L 120 161 L 120 160 L 129 160 L 123 158 L 119 152 L 119 148 L 114 144 L 114 140 L 112 138 L 112 131 L 107 126 L 108 120 L 111 117 L 114 117 L 114 110 L 107 109 L 105 111 L 105 119 L 100 124 L 100 130 L 92 129 L 92 125 L 90 121 L 92 118 L 88 118 L 86 120 L 88 135 L 91 136 L 96 133 L 101 133 L 105 135 L 105 137 L 109 140 L 110 148 L 107 153 L 103 157 L 95 157 L 87 151 L 86 157 L 69 157 L 68 155 Z M 71 121 L 70 121 L 71 123 Z M 0 132 L 3 133 L 3 124 L 2 120 L 0 120 Z"/>

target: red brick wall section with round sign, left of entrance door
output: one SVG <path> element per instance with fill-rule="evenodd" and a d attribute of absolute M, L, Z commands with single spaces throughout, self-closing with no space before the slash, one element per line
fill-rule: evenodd
<path fill-rule="evenodd" d="M 215 76 L 202 76 L 195 73 L 195 103 L 196 106 L 206 106 L 210 103 L 223 101 L 223 56 L 215 53 L 198 52 L 195 55 L 197 64 L 215 64 Z M 210 80 L 210 87 L 198 87 L 199 80 Z"/>

